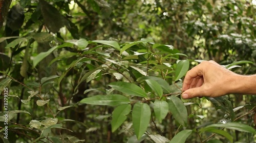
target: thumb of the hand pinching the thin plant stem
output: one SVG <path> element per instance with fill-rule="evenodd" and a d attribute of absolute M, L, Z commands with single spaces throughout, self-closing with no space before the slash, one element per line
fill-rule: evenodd
<path fill-rule="evenodd" d="M 194 97 L 201 97 L 201 96 L 203 96 L 203 91 L 204 91 L 203 87 L 188 89 L 188 90 L 183 92 L 181 97 L 183 99 L 190 99 L 190 98 L 194 98 Z"/>

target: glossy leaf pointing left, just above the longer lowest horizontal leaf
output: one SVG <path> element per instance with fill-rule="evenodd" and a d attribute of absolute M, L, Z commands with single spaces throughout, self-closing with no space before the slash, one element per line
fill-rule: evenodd
<path fill-rule="evenodd" d="M 138 85 L 123 81 L 112 82 L 109 86 L 127 95 L 134 95 L 147 98 L 146 93 Z"/>

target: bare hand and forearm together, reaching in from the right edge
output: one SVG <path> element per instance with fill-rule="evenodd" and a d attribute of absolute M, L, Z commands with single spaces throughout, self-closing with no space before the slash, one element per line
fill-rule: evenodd
<path fill-rule="evenodd" d="M 204 61 L 187 72 L 182 90 L 183 99 L 256 94 L 256 75 L 239 75 L 214 61 Z"/>

